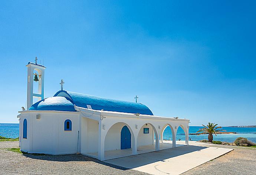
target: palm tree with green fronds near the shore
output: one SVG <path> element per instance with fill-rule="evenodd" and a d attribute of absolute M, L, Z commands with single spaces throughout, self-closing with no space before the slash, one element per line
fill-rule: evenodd
<path fill-rule="evenodd" d="M 200 128 L 199 131 L 197 131 L 196 133 L 198 133 L 198 135 L 201 134 L 209 134 L 208 135 L 208 142 L 213 142 L 213 133 L 216 135 L 216 132 L 220 132 L 220 131 L 226 131 L 224 129 L 221 129 L 221 126 L 216 127 L 218 124 L 214 124 L 214 123 L 208 123 L 208 125 L 203 125 L 204 128 Z M 219 129 L 219 130 L 216 130 Z M 216 135 L 217 136 L 217 135 Z"/>

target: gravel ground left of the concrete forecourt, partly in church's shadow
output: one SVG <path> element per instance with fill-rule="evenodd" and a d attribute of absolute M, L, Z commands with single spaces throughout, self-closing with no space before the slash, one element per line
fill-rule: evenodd
<path fill-rule="evenodd" d="M 1 175 L 148 175 L 83 155 L 32 155 L 6 150 L 6 148 L 19 148 L 18 145 L 18 141 L 0 142 Z"/>

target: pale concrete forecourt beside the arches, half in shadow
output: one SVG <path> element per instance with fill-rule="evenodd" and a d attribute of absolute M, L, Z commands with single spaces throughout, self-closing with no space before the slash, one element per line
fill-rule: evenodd
<path fill-rule="evenodd" d="M 208 143 L 195 141 L 189 144 L 105 162 L 154 175 L 179 175 L 233 150 L 206 147 Z"/>

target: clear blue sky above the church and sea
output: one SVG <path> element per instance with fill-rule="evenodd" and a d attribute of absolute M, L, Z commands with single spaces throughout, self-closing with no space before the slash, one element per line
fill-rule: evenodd
<path fill-rule="evenodd" d="M 256 125 L 256 2 L 1 1 L 0 123 L 26 104 L 25 65 L 64 90 L 134 101 L 155 115 Z"/>

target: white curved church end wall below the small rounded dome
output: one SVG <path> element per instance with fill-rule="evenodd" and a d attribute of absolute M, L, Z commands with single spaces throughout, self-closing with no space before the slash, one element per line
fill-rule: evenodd
<path fill-rule="evenodd" d="M 36 119 L 40 114 L 40 119 Z M 27 119 L 27 139 L 20 132 L 20 148 L 29 153 L 68 154 L 77 151 L 79 115 L 74 112 L 27 112 L 21 115 L 20 128 Z M 70 119 L 72 131 L 64 131 L 64 121 Z"/>

